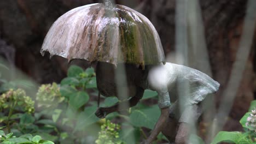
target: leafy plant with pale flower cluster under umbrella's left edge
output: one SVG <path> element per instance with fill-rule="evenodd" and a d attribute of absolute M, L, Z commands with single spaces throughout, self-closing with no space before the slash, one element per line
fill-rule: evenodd
<path fill-rule="evenodd" d="M 97 92 L 96 87 L 94 69 L 83 70 L 72 65 L 60 85 L 53 83 L 39 87 L 36 100 L 42 111 L 37 113 L 37 123 L 54 128 L 60 142 L 69 140 L 71 143 L 88 143 L 85 139 L 90 134 L 81 134 L 85 133 L 88 127 L 96 125 L 99 120 L 94 115 L 96 104 L 89 102 L 88 93 L 88 89 L 91 89 L 90 92 Z M 41 117 L 43 119 L 40 119 Z M 61 131 L 57 127 L 67 131 Z M 95 130 L 98 132 L 100 126 L 97 127 Z"/>

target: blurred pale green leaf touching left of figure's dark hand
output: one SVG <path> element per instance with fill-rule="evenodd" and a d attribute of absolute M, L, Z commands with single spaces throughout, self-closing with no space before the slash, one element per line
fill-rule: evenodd
<path fill-rule="evenodd" d="M 84 130 L 89 125 L 96 123 L 100 118 L 95 116 L 97 106 L 89 106 L 84 109 L 83 112 L 80 112 L 78 115 L 77 124 L 75 125 L 75 131 Z"/>

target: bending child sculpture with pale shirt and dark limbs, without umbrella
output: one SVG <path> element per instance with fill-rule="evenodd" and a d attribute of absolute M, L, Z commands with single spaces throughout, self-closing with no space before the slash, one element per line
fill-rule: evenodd
<path fill-rule="evenodd" d="M 114 69 L 113 65 L 107 63 L 99 62 L 97 64 L 97 87 L 99 92 L 106 97 L 113 95 L 120 97 L 114 82 Z M 144 70 L 136 67 L 136 65 L 125 64 L 125 72 L 127 83 L 124 87 L 127 88 L 127 92 L 131 96 L 130 106 L 135 106 L 138 103 L 143 96 L 144 89 L 158 92 L 161 115 L 152 133 L 143 143 L 152 143 L 160 131 L 170 142 L 185 143 L 185 138 L 189 133 L 189 120 L 191 119 L 187 114 L 190 113 L 192 119 L 196 121 L 201 115 L 200 106 L 197 105 L 208 95 L 217 92 L 219 88 L 217 81 L 201 71 L 173 63 L 157 66 L 146 65 Z M 171 102 L 173 102 L 172 105 Z M 95 114 L 104 118 L 108 113 L 118 111 L 119 104 L 111 107 L 100 107 Z M 183 109 L 179 109 L 181 106 L 179 104 L 182 104 Z M 173 122 L 173 115 L 177 119 L 173 126 L 179 127 L 177 135 L 174 133 L 176 135 L 174 140 L 170 129 L 164 129 L 164 127 L 171 127 L 169 122 Z M 175 129 L 171 131 L 175 131 Z"/>

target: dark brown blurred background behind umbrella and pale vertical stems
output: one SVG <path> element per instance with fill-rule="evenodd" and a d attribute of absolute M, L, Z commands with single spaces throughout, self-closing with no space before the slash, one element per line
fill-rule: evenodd
<path fill-rule="evenodd" d="M 40 55 L 44 37 L 53 22 L 66 11 L 94 0 L 8 0 L 0 1 L 0 55 L 38 83 L 60 82 L 66 76 L 68 63 L 61 57 L 49 59 Z M 174 0 L 133 0 L 115 3 L 127 5 L 147 16 L 157 29 L 166 56 L 174 51 Z M 236 50 L 240 43 L 246 0 L 201 0 L 200 8 L 205 30 L 206 46 L 213 78 L 220 83 L 216 107 L 228 85 Z M 228 123 L 224 130 L 242 130 L 240 118 L 256 97 L 256 31 Z M 86 65 L 85 62 L 78 62 Z M 205 125 L 200 125 L 203 129 Z M 203 131 L 202 131 L 203 133 Z M 203 134 L 202 134 L 203 135 Z"/>

